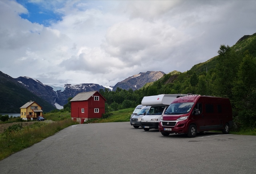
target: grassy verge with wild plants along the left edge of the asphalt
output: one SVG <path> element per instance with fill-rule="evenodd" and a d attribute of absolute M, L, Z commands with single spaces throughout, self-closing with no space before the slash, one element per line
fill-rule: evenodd
<path fill-rule="evenodd" d="M 78 123 L 70 118 L 48 123 L 37 122 L 28 127 L 13 125 L 0 134 L 0 160 L 75 124 Z"/>

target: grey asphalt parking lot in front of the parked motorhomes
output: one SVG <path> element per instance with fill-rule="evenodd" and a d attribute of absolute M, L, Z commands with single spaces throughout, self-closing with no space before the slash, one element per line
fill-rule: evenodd
<path fill-rule="evenodd" d="M 250 174 L 256 136 L 162 136 L 129 122 L 73 125 L 0 161 L 1 174 Z"/>

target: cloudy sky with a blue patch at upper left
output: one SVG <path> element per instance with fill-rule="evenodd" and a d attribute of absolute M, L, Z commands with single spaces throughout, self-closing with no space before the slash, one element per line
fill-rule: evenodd
<path fill-rule="evenodd" d="M 0 0 L 0 71 L 42 83 L 185 72 L 256 33 L 256 0 Z"/>

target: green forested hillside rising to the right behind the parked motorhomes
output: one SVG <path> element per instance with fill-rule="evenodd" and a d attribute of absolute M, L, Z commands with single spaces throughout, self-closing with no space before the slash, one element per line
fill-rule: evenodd
<path fill-rule="evenodd" d="M 194 65 L 184 73 L 172 72 L 158 81 L 132 91 L 100 90 L 106 110 L 136 107 L 144 96 L 193 93 L 228 97 L 235 128 L 256 126 L 256 34 L 242 37 L 235 45 L 220 45 L 218 55 Z"/>

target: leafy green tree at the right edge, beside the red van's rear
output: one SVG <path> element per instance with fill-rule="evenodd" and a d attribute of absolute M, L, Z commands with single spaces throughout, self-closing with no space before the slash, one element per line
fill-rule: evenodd
<path fill-rule="evenodd" d="M 234 81 L 232 92 L 238 119 L 245 127 L 256 126 L 256 59 L 246 53 Z"/>

